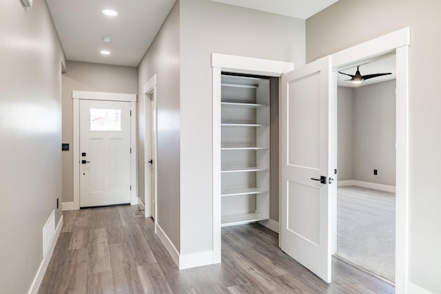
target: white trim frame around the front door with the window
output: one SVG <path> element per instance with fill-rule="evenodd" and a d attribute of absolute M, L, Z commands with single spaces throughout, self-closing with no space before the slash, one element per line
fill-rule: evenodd
<path fill-rule="evenodd" d="M 74 152 L 74 202 L 68 202 L 63 210 L 80 209 L 80 100 L 102 100 L 130 102 L 130 204 L 138 204 L 138 185 L 136 180 L 136 94 L 120 94 L 106 92 L 72 91 L 73 102 L 73 152 Z"/>

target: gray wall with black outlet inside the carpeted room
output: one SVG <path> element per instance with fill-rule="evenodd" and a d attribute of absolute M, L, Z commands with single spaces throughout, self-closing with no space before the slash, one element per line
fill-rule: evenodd
<path fill-rule="evenodd" d="M 395 88 L 395 80 L 353 88 L 353 180 L 396 185 Z"/>

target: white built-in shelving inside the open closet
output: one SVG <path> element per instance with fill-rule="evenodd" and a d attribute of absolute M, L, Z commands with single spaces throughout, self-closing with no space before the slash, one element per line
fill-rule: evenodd
<path fill-rule="evenodd" d="M 223 74 L 222 225 L 269 219 L 269 80 Z"/>

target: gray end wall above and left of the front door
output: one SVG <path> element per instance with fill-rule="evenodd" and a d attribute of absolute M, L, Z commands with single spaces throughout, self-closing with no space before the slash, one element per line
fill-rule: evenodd
<path fill-rule="evenodd" d="M 73 103 L 72 91 L 93 91 L 136 94 L 138 83 L 136 67 L 103 65 L 68 61 L 62 77 L 63 87 L 63 202 L 74 201 L 73 176 Z"/>

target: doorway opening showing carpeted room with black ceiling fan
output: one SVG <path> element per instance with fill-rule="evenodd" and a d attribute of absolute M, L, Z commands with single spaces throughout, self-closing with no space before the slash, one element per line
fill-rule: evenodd
<path fill-rule="evenodd" d="M 395 282 L 396 56 L 358 61 L 363 74 L 392 72 L 353 84 L 338 74 L 337 235 L 334 253 Z M 353 73 L 356 67 L 338 69 Z M 346 77 L 345 77 L 346 78 Z"/>

